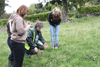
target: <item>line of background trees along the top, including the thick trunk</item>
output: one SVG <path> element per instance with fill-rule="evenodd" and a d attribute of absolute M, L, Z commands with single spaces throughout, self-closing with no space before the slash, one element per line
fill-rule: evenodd
<path fill-rule="evenodd" d="M 0 0 L 0 17 L 1 18 L 7 18 L 9 15 L 7 15 L 4 11 L 5 6 L 8 6 L 5 2 L 9 2 L 8 0 Z M 39 0 L 40 2 L 40 0 Z M 45 6 L 43 6 L 43 2 L 46 3 Z M 81 8 L 81 6 L 85 6 L 85 4 L 88 2 L 88 4 L 92 5 L 99 5 L 100 0 L 43 0 L 42 2 L 38 4 L 31 4 L 29 6 L 29 12 L 28 15 L 31 14 L 38 14 L 43 12 L 51 11 L 54 7 L 60 7 L 62 10 L 62 21 L 66 22 L 68 20 L 68 13 L 74 12 L 75 9 Z M 9 4 L 10 5 L 10 4 Z"/>

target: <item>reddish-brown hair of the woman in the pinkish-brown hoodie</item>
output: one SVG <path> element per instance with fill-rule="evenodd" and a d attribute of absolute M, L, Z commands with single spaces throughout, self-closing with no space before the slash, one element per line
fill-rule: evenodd
<path fill-rule="evenodd" d="M 21 5 L 18 9 L 17 9 L 17 14 L 19 14 L 22 18 L 27 14 L 27 12 L 29 11 L 28 7 L 25 5 Z"/>

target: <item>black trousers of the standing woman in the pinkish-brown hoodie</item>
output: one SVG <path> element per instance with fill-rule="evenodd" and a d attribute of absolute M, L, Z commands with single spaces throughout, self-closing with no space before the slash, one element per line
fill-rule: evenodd
<path fill-rule="evenodd" d="M 13 53 L 13 66 L 14 67 L 22 67 L 24 53 L 25 53 L 25 44 L 18 43 L 13 40 L 10 41 L 11 50 Z"/>

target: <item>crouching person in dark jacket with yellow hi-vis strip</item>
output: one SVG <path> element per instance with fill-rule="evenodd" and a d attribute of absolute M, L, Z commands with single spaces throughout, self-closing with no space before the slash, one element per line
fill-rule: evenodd
<path fill-rule="evenodd" d="M 38 49 L 44 50 L 44 47 L 47 48 L 48 45 L 44 38 L 42 37 L 41 28 L 43 27 L 43 23 L 41 21 L 37 21 L 35 27 L 32 26 L 29 29 L 27 34 L 27 44 L 29 45 L 29 50 L 26 50 L 26 56 L 29 58 L 32 54 L 37 54 Z M 41 42 L 41 44 L 40 44 Z M 43 46 L 44 44 L 44 46 Z M 26 46 L 26 45 L 25 45 Z M 27 47 L 26 47 L 27 48 Z"/>

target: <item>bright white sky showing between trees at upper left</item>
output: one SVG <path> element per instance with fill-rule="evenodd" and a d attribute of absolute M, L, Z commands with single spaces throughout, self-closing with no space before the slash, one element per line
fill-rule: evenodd
<path fill-rule="evenodd" d="M 43 1 L 43 0 L 41 0 Z M 9 2 L 7 2 L 11 7 L 5 7 L 5 11 L 6 13 L 12 13 L 13 11 L 16 12 L 16 10 L 18 9 L 19 6 L 21 5 L 26 5 L 27 7 L 29 7 L 31 4 L 33 3 L 39 3 L 38 0 L 9 0 Z"/>

